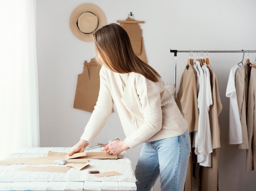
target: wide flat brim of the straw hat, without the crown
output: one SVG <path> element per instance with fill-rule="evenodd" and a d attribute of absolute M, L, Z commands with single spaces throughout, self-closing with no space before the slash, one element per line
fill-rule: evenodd
<path fill-rule="evenodd" d="M 81 32 L 76 24 L 79 16 L 84 12 L 91 12 L 97 16 L 98 26 L 95 29 L 95 31 L 97 31 L 101 27 L 105 26 L 107 24 L 107 19 L 106 19 L 104 12 L 101 10 L 101 8 L 99 8 L 97 5 L 91 4 L 91 3 L 81 4 L 78 7 L 76 7 L 74 9 L 74 11 L 71 13 L 70 29 L 71 29 L 72 33 L 80 40 L 83 40 L 85 42 L 90 42 L 90 41 L 93 41 L 93 33 L 86 34 L 86 33 Z"/>

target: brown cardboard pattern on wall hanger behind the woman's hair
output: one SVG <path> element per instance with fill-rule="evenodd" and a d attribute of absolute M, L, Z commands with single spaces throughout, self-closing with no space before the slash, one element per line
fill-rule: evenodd
<path fill-rule="evenodd" d="M 128 22 L 122 22 L 120 20 L 117 20 L 117 22 L 120 22 L 120 26 L 123 27 L 128 33 L 134 53 L 142 61 L 144 61 L 145 63 L 148 63 L 146 58 L 143 37 L 142 37 L 142 30 L 139 27 L 139 22 L 137 22 L 136 20 L 130 17 L 128 17 L 126 21 Z"/>

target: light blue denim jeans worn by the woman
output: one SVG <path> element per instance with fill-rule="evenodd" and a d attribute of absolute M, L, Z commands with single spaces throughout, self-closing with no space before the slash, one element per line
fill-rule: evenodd
<path fill-rule="evenodd" d="M 135 169 L 137 191 L 150 191 L 160 175 L 162 191 L 183 191 L 191 154 L 189 131 L 144 143 Z"/>

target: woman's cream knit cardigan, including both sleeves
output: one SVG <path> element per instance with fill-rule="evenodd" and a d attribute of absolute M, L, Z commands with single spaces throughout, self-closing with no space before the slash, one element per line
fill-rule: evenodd
<path fill-rule="evenodd" d="M 187 129 L 186 120 L 161 78 L 152 82 L 138 73 L 119 74 L 103 66 L 99 97 L 81 139 L 93 141 L 112 113 L 114 103 L 130 148 L 182 135 Z"/>

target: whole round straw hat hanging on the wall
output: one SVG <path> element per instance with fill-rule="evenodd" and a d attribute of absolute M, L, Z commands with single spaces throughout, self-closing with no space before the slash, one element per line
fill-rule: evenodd
<path fill-rule="evenodd" d="M 95 4 L 81 4 L 70 15 L 72 33 L 85 42 L 93 41 L 93 32 L 106 24 L 104 12 Z"/>

